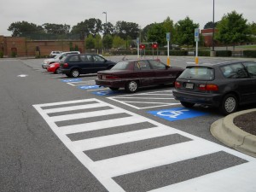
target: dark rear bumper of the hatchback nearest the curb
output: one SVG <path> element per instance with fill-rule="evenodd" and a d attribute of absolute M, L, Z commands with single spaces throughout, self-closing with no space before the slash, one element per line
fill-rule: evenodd
<path fill-rule="evenodd" d="M 191 93 L 183 90 L 172 90 L 176 100 L 181 102 L 192 102 L 202 105 L 218 107 L 221 103 L 222 95 L 212 93 Z"/>

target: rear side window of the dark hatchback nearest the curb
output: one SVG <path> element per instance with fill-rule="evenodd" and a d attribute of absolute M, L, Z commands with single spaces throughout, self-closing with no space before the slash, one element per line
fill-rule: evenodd
<path fill-rule="evenodd" d="M 220 67 L 224 77 L 228 79 L 241 79 L 247 78 L 247 71 L 241 63 L 230 64 Z"/>

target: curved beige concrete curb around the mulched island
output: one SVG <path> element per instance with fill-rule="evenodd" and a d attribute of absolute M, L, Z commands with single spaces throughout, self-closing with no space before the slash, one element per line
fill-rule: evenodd
<path fill-rule="evenodd" d="M 223 119 L 218 119 L 211 125 L 210 131 L 212 136 L 231 148 L 256 157 L 256 136 L 242 131 L 233 123 L 233 119 L 237 116 L 253 111 L 256 111 L 256 108 L 231 113 Z"/>

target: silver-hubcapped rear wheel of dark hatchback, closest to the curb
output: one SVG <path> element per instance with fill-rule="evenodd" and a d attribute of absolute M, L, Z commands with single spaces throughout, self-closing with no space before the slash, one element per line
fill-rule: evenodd
<path fill-rule="evenodd" d="M 237 98 L 233 94 L 224 96 L 220 109 L 225 115 L 236 112 L 238 106 Z"/>

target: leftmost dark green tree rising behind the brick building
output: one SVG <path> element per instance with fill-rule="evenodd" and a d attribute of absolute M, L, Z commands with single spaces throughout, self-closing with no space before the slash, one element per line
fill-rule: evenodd
<path fill-rule="evenodd" d="M 13 37 L 26 37 L 31 34 L 44 33 L 42 26 L 37 26 L 36 24 L 28 23 L 26 21 L 12 23 L 9 26 L 8 31 L 13 32 Z"/>

